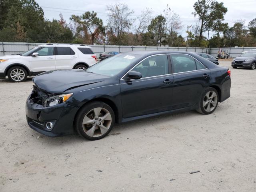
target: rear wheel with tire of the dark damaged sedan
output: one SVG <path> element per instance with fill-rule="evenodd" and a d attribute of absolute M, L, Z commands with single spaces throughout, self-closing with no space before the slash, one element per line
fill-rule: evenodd
<path fill-rule="evenodd" d="M 218 106 L 219 94 L 216 89 L 209 87 L 207 88 L 199 101 L 198 112 L 201 114 L 211 114 Z"/>

